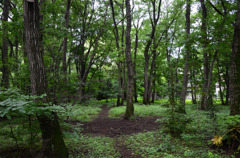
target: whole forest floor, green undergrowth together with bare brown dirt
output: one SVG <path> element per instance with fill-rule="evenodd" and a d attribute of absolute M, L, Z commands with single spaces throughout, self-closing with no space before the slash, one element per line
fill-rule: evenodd
<path fill-rule="evenodd" d="M 240 157 L 237 152 L 216 148 L 211 142 L 216 135 L 227 132 L 227 123 L 231 121 L 229 106 L 216 104 L 214 111 L 201 111 L 196 104 L 187 104 L 187 114 L 172 115 L 164 100 L 147 106 L 136 103 L 135 117 L 124 120 L 126 107 L 116 107 L 114 103 L 93 101 L 67 106 L 64 113 L 59 113 L 69 158 Z M 41 149 L 38 121 L 33 117 L 29 128 L 28 120 L 16 115 L 9 122 L 0 121 L 1 158 L 34 157 Z M 181 130 L 181 134 L 174 136 L 171 130 Z M 29 145 L 31 134 L 33 154 Z"/>

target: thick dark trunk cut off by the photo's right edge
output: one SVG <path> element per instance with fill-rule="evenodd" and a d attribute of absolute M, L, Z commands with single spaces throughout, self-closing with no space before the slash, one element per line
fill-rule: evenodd
<path fill-rule="evenodd" d="M 230 65 L 230 115 L 240 115 L 240 1 L 238 1 Z"/>

